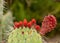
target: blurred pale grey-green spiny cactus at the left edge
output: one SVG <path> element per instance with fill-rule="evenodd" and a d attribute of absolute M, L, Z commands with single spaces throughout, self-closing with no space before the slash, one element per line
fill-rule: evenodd
<path fill-rule="evenodd" d="M 5 1 L 0 0 L 0 43 L 6 43 L 8 34 L 12 31 L 11 25 L 13 24 L 10 11 L 3 15 L 3 10 L 5 9 L 4 5 Z"/>

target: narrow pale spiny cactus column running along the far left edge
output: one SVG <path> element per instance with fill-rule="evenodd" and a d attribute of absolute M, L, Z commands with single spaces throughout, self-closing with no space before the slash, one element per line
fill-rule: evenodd
<path fill-rule="evenodd" d="M 0 43 L 2 43 L 1 20 L 2 20 L 2 17 L 3 17 L 3 8 L 4 8 L 4 0 L 0 0 Z"/>

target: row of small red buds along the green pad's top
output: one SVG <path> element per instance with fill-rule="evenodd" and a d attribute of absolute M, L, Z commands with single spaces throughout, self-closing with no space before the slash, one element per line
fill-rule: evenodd
<path fill-rule="evenodd" d="M 30 22 L 28 22 L 26 19 L 20 22 L 14 22 L 14 29 L 19 27 L 29 27 L 29 28 L 34 27 L 37 31 L 40 30 L 40 26 L 36 24 L 35 19 L 32 19 Z"/>

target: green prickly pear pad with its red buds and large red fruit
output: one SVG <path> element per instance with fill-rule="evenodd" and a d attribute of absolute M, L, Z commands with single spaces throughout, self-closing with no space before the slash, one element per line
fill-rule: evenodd
<path fill-rule="evenodd" d="M 30 22 L 27 22 L 26 19 L 23 22 L 15 22 L 14 30 L 8 37 L 8 43 L 42 43 L 41 35 L 46 35 L 46 33 L 51 32 L 56 25 L 57 21 L 55 16 L 50 14 L 44 17 L 41 29 L 36 24 L 35 19 L 32 19 Z"/>

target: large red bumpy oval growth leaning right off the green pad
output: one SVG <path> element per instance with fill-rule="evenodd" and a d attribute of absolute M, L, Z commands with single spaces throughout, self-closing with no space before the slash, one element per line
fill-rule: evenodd
<path fill-rule="evenodd" d="M 40 34 L 45 35 L 56 27 L 57 21 L 53 15 L 45 16 L 42 22 Z"/>

